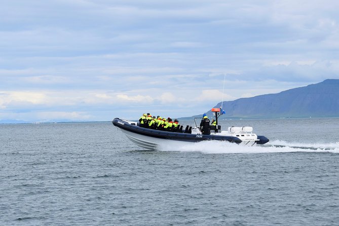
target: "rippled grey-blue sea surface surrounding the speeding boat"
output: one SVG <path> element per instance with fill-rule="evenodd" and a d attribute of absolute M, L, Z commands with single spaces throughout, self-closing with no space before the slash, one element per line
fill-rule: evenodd
<path fill-rule="evenodd" d="M 270 142 L 149 151 L 110 122 L 0 125 L 0 225 L 339 225 L 339 119 L 221 125 Z"/>

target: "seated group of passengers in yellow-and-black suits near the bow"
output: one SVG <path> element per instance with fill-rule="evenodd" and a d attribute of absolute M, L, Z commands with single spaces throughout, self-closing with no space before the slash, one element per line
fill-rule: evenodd
<path fill-rule="evenodd" d="M 148 129 L 170 131 L 170 132 L 181 132 L 182 126 L 180 127 L 177 119 L 162 118 L 160 116 L 152 116 L 149 113 L 143 114 L 139 119 L 139 126 Z M 181 128 L 181 131 L 180 131 Z"/>

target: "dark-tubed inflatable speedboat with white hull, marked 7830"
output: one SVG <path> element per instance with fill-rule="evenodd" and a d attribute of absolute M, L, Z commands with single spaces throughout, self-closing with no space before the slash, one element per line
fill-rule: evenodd
<path fill-rule="evenodd" d="M 218 108 L 217 108 L 218 109 Z M 213 109 L 212 109 L 213 110 Z M 217 120 L 217 114 L 215 114 Z M 205 140 L 218 140 L 237 143 L 240 145 L 253 146 L 265 144 L 269 139 L 252 133 L 252 127 L 229 127 L 221 130 L 220 126 L 211 126 L 208 133 L 204 133 L 197 126 L 186 126 L 184 131 L 170 132 L 143 128 L 137 122 L 115 118 L 113 125 L 119 128 L 133 143 L 145 149 L 154 150 L 161 144 L 180 145 L 187 142 L 201 142 Z"/>

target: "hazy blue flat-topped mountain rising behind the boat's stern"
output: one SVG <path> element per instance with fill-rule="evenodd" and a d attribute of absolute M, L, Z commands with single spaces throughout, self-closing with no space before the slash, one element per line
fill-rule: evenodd
<path fill-rule="evenodd" d="M 214 107 L 220 106 L 221 102 Z M 226 114 L 221 118 L 339 117 L 339 80 L 327 79 L 276 94 L 223 101 L 222 108 Z"/>

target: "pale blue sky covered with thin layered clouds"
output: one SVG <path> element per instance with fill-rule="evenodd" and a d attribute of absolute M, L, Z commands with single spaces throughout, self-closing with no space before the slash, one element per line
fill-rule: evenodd
<path fill-rule="evenodd" d="M 0 121 L 189 117 L 339 79 L 336 0 L 1 2 Z"/>

